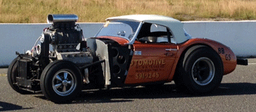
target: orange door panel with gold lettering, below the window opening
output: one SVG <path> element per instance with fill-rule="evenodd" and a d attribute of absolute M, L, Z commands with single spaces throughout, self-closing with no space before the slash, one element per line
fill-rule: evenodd
<path fill-rule="evenodd" d="M 142 44 L 135 42 L 125 84 L 165 81 L 178 52 L 176 44 Z"/>

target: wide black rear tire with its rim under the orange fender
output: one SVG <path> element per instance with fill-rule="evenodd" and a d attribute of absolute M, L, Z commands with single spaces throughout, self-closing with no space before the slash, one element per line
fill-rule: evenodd
<path fill-rule="evenodd" d="M 192 94 L 211 92 L 219 87 L 223 76 L 222 60 L 213 49 L 200 47 L 191 52 L 178 66 L 174 78 L 178 89 L 189 90 Z"/>

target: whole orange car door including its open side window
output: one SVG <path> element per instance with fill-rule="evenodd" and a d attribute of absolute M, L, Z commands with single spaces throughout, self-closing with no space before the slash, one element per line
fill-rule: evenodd
<path fill-rule="evenodd" d="M 167 80 L 176 60 L 178 47 L 170 28 L 143 23 L 133 44 L 133 51 L 125 84 Z"/>

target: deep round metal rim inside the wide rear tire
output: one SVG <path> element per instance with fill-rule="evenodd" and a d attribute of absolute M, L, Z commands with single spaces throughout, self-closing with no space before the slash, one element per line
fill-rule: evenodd
<path fill-rule="evenodd" d="M 192 79 L 200 86 L 209 84 L 214 75 L 214 63 L 208 57 L 200 57 L 192 65 Z"/>

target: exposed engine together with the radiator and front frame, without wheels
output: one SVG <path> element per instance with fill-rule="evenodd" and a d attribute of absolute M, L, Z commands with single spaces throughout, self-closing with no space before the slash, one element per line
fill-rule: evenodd
<path fill-rule="evenodd" d="M 16 71 L 18 87 L 33 92 L 39 90 L 42 71 L 56 60 L 69 60 L 78 66 L 92 63 L 93 57 L 86 49 L 83 31 L 75 24 L 77 20 L 76 15 L 48 15 L 48 23 L 52 25 L 43 30 L 34 47 L 25 55 L 16 53 L 19 55 Z M 84 68 L 83 76 L 89 83 L 87 68 Z"/>

